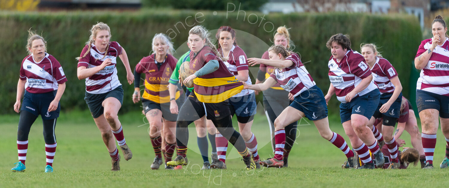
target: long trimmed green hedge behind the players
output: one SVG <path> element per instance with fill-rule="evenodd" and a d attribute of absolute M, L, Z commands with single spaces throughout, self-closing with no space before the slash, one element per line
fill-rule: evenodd
<path fill-rule="evenodd" d="M 237 14 L 237 11 L 238 9 L 229 14 L 219 12 L 217 15 L 208 11 L 156 10 L 133 13 L 0 13 L 0 52 L 3 52 L 0 64 L 4 69 L 0 75 L 0 85 L 3 88 L 0 98 L 4 101 L 4 108 L 0 109 L 0 113 L 13 113 L 19 67 L 27 55 L 25 45 L 27 30 L 30 28 L 42 33 L 47 39 L 48 52 L 61 62 L 69 80 L 61 99 L 62 109 L 87 109 L 84 102 L 84 80 L 78 80 L 76 77 L 75 57 L 79 56 L 88 40 L 90 27 L 97 22 L 106 22 L 110 26 L 111 40 L 118 41 L 126 50 L 132 69 L 142 57 L 149 55 L 151 39 L 156 33 L 166 33 L 173 38 L 177 49 L 174 55 L 180 57 L 187 50 L 185 42 L 191 28 L 187 24 L 204 25 L 210 30 L 221 25 L 232 26 L 238 30 L 238 44 L 248 57 L 260 57 L 272 44 L 270 41 L 273 40 L 273 26 L 286 25 L 291 28 L 291 39 L 296 46 L 294 51 L 300 53 L 303 62 L 307 62 L 305 66 L 325 93 L 329 87 L 327 62 L 330 57 L 326 41 L 336 33 L 349 34 L 352 48 L 357 51 L 360 51 L 361 43 L 379 45 L 383 56 L 399 72 L 404 96 L 408 97 L 409 87 L 414 87 L 409 86 L 407 79 L 422 39 L 419 24 L 414 17 L 360 13 L 263 15 L 243 11 Z M 257 67 L 250 68 L 254 76 L 257 70 Z M 118 72 L 125 90 L 121 111 L 141 109 L 140 105 L 132 103 L 133 86 L 126 84 L 126 71 L 120 62 Z M 330 113 L 338 113 L 338 105 L 339 102 L 333 98 L 329 107 Z"/>

